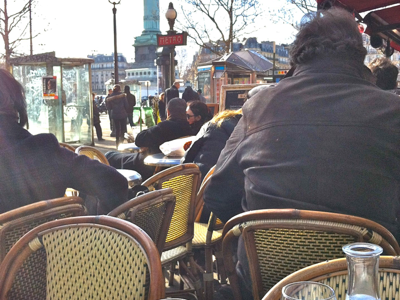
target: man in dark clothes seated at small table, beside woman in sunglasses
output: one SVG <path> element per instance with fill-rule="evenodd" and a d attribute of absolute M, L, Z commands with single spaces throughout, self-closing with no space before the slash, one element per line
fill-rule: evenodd
<path fill-rule="evenodd" d="M 167 120 L 156 126 L 140 132 L 135 139 L 138 147 L 145 147 L 139 153 L 107 152 L 106 157 L 111 166 L 117 169 L 135 170 L 146 180 L 154 173 L 154 167 L 144 164 L 144 159 L 149 154 L 160 153 L 160 145 L 191 135 L 189 123 L 186 120 L 186 102 L 174 98 L 167 104 Z"/>

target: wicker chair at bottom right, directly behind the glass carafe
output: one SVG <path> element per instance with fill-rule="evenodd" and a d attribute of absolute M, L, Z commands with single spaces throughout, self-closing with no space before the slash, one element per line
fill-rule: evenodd
<path fill-rule="evenodd" d="M 296 281 L 316 281 L 327 284 L 333 288 L 337 299 L 345 299 L 348 287 L 346 259 L 339 258 L 298 270 L 274 285 L 262 300 L 280 300 L 282 288 Z M 378 286 L 380 299 L 400 299 L 400 257 L 380 257 Z"/>

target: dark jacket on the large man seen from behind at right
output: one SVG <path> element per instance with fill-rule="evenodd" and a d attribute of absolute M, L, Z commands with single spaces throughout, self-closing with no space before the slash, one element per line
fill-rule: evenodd
<path fill-rule="evenodd" d="M 224 221 L 309 209 L 368 218 L 396 236 L 399 198 L 399 97 L 364 80 L 355 62 L 329 58 L 246 102 L 204 199 Z"/>

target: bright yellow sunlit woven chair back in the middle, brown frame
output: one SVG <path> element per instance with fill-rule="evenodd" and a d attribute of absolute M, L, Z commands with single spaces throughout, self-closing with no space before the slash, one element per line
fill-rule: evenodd
<path fill-rule="evenodd" d="M 197 165 L 183 164 L 161 171 L 142 184 L 155 190 L 170 188 L 176 197 L 164 250 L 184 245 L 193 238 L 194 209 L 200 176 Z"/>

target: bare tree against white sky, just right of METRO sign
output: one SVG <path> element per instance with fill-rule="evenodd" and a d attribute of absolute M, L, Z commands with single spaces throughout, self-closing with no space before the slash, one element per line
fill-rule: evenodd
<path fill-rule="evenodd" d="M 259 0 L 185 0 L 180 27 L 195 43 L 213 53 L 232 50 L 232 42 L 246 34 L 260 16 Z"/>

